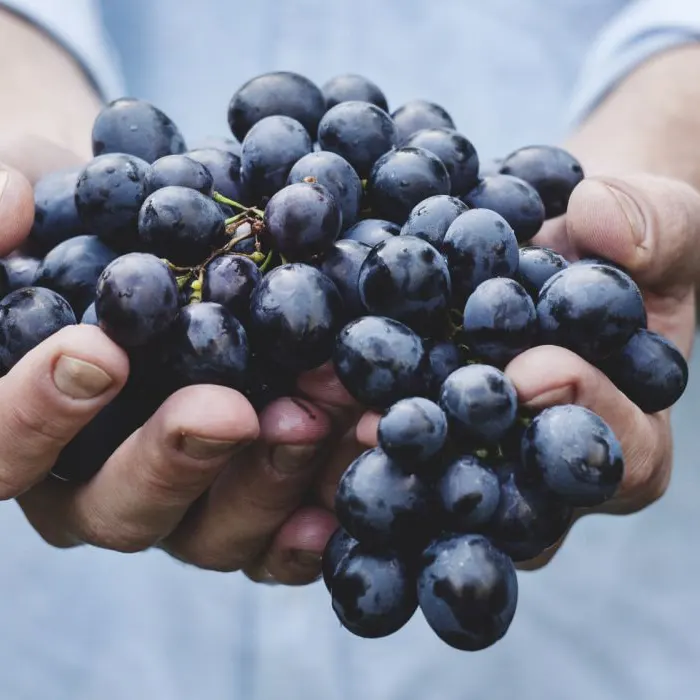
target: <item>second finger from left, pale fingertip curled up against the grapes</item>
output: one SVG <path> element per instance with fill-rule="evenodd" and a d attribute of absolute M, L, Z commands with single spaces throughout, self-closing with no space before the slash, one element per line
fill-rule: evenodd
<path fill-rule="evenodd" d="M 28 494 L 40 506 L 51 490 L 55 531 L 41 534 L 135 552 L 170 533 L 231 456 L 258 435 L 255 411 L 241 394 L 196 386 L 173 394 L 146 424 L 77 489 L 47 484 Z M 31 506 L 32 504 L 30 504 Z M 59 530 L 60 528 L 60 530 Z"/>

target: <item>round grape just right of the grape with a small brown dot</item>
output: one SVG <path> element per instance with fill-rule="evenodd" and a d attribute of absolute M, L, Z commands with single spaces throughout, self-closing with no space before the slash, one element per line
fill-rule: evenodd
<path fill-rule="evenodd" d="M 422 148 L 399 148 L 384 154 L 374 164 L 367 183 L 372 213 L 399 225 L 424 199 L 449 193 L 450 176 L 445 166 Z"/>

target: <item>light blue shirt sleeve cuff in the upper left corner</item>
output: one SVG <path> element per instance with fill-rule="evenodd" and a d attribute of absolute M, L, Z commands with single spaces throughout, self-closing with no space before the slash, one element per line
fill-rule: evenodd
<path fill-rule="evenodd" d="M 0 0 L 0 7 L 32 22 L 68 51 L 103 100 L 125 94 L 117 53 L 97 0 Z"/>

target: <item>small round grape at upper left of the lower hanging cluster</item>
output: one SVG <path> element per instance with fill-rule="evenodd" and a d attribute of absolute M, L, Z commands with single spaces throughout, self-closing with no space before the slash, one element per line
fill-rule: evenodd
<path fill-rule="evenodd" d="M 403 466 L 426 463 L 445 446 L 447 418 L 428 399 L 403 399 L 380 418 L 377 436 L 379 447 Z"/>

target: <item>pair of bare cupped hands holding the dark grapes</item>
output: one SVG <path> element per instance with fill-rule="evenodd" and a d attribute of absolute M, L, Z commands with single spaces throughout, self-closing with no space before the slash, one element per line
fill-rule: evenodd
<path fill-rule="evenodd" d="M 10 167 L 0 170 L 0 187 L 0 254 L 7 254 L 31 228 L 33 197 L 27 179 Z M 596 255 L 625 267 L 643 289 L 650 328 L 688 357 L 699 240 L 694 189 L 634 176 L 584 181 L 565 220 L 550 222 L 536 243 L 572 259 Z M 605 512 L 634 512 L 663 494 L 672 460 L 668 412 L 644 415 L 601 372 L 562 348 L 534 348 L 507 374 L 521 403 L 577 403 L 615 431 L 626 470 Z M 16 498 L 38 533 L 58 547 L 159 547 L 201 568 L 243 570 L 256 581 L 298 585 L 317 578 L 336 527 L 335 486 L 350 461 L 376 444 L 378 416 L 362 416 L 328 366 L 301 377 L 304 398 L 278 400 L 260 416 L 235 391 L 188 387 L 89 483 L 47 479 L 61 449 L 127 375 L 120 348 L 97 328 L 75 326 L 0 379 L 0 499 Z"/>

